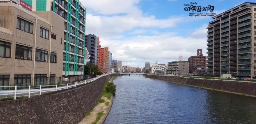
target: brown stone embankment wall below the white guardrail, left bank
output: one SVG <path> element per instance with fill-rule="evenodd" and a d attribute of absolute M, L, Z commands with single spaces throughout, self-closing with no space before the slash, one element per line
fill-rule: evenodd
<path fill-rule="evenodd" d="M 33 98 L 0 101 L 0 124 L 78 124 L 101 98 L 111 74 L 86 85 Z"/>

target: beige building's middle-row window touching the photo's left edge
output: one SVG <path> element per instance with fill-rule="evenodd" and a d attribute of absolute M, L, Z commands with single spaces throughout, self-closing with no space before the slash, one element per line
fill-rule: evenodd
<path fill-rule="evenodd" d="M 11 43 L 0 41 L 0 57 L 11 57 Z"/>

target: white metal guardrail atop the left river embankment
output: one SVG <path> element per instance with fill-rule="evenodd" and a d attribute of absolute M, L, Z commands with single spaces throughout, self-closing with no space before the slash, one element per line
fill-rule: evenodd
<path fill-rule="evenodd" d="M 14 100 L 16 100 L 16 97 L 28 97 L 30 98 L 31 95 L 41 95 L 44 92 L 52 92 L 52 91 L 58 91 L 63 89 L 69 89 L 72 87 L 76 87 L 82 84 L 93 82 L 100 77 L 105 76 L 101 75 L 99 77 L 87 79 L 84 81 L 74 82 L 74 83 L 67 83 L 67 84 L 60 84 L 60 85 L 47 85 L 47 86 L 0 86 L 1 87 L 14 87 L 14 90 L 0 90 L 0 99 L 6 98 L 6 97 L 14 97 Z M 17 89 L 17 87 L 28 87 L 28 89 Z M 35 89 L 31 89 L 31 87 L 37 87 Z M 44 88 L 46 87 L 46 88 Z M 50 88 L 49 88 L 50 87 Z M 12 95 L 12 96 L 11 96 Z"/>

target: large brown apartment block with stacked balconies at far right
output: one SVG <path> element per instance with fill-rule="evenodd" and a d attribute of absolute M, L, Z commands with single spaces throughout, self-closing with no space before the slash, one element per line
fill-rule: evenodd
<path fill-rule="evenodd" d="M 245 2 L 214 16 L 207 27 L 207 75 L 256 75 L 256 3 Z"/>

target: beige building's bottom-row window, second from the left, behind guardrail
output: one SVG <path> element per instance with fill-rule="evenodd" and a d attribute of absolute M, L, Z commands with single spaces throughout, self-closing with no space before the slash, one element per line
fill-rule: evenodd
<path fill-rule="evenodd" d="M 31 82 L 31 75 L 14 75 L 14 85 L 29 86 Z"/>

